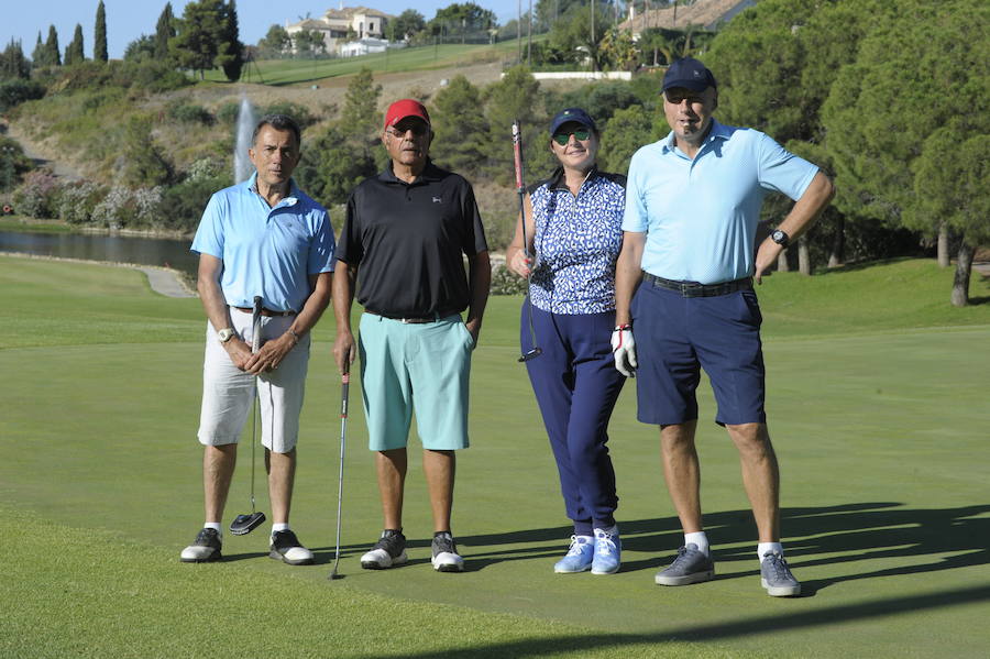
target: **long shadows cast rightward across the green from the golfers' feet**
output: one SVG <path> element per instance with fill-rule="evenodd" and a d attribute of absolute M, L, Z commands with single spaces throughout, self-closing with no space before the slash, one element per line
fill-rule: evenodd
<path fill-rule="evenodd" d="M 867 569 L 832 579 L 805 581 L 803 596 L 845 581 L 937 572 L 990 563 L 990 504 L 958 508 L 903 508 L 892 502 L 869 502 L 784 508 L 781 527 L 789 562 L 795 571 L 803 567 L 860 563 Z M 623 546 L 654 557 L 623 563 L 623 572 L 653 570 L 666 565 L 683 541 L 676 517 L 620 520 Z M 749 510 L 725 510 L 705 515 L 705 530 L 721 564 L 716 579 L 750 578 L 758 574 L 756 528 Z M 554 559 L 566 551 L 570 526 L 524 529 L 506 534 L 458 537 L 469 571 L 484 570 L 503 561 Z M 341 547 L 341 558 L 360 556 L 372 542 Z M 740 546 L 740 547 L 728 547 Z M 429 547 L 429 540 L 410 539 L 410 548 Z M 719 549 L 723 547 L 723 549 Z M 316 562 L 333 561 L 333 547 L 315 549 Z M 816 558 L 827 554 L 828 558 Z M 926 562 L 871 570 L 878 559 L 926 557 Z M 421 560 L 416 562 L 428 562 Z M 413 564 L 414 561 L 410 561 Z M 739 565 L 745 568 L 739 569 Z M 800 578 L 800 573 L 799 573 Z"/>

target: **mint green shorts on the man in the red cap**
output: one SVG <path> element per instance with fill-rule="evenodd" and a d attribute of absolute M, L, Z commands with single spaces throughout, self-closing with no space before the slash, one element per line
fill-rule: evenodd
<path fill-rule="evenodd" d="M 358 348 L 372 451 L 405 448 L 414 411 L 425 449 L 468 448 L 474 339 L 460 316 L 404 323 L 365 312 Z"/>

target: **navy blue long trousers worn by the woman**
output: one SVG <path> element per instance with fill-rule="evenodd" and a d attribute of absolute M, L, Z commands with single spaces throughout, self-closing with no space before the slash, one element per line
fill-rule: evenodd
<path fill-rule="evenodd" d="M 528 314 L 542 354 L 526 362 L 560 473 L 575 535 L 615 524 L 618 496 L 608 455 L 608 419 L 626 378 L 612 356 L 615 312 L 549 314 L 524 303 L 522 352 L 532 348 Z"/>

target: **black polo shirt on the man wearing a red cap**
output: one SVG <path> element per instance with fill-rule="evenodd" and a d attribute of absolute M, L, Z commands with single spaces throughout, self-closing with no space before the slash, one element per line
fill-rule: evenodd
<path fill-rule="evenodd" d="M 358 267 L 365 309 L 422 318 L 468 308 L 464 255 L 487 249 L 471 184 L 430 161 L 406 183 L 389 163 L 351 193 L 337 259 Z"/>

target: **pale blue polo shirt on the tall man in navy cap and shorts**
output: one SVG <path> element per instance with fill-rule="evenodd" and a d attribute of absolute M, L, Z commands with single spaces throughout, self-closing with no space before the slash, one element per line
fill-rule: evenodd
<path fill-rule="evenodd" d="M 763 197 L 796 200 L 818 171 L 759 131 L 712 123 L 694 158 L 671 132 L 629 164 L 623 230 L 646 232 L 642 270 L 652 275 L 701 284 L 751 275 Z"/>

